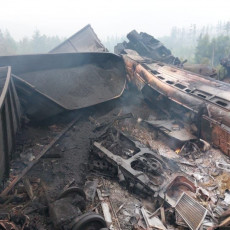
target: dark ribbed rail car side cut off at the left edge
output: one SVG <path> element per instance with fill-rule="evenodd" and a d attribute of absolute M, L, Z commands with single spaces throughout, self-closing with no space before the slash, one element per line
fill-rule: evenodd
<path fill-rule="evenodd" d="M 9 162 L 20 126 L 20 104 L 10 67 L 0 68 L 0 181 L 9 174 Z"/>

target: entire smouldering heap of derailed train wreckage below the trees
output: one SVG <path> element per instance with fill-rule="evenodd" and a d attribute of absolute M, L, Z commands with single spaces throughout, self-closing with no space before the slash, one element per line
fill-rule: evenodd
<path fill-rule="evenodd" d="M 0 57 L 13 73 L 0 97 L 0 229 L 228 228 L 229 85 L 177 68 L 145 33 L 121 56 L 97 53 L 90 26 L 58 49 L 84 31 L 92 53 Z"/>

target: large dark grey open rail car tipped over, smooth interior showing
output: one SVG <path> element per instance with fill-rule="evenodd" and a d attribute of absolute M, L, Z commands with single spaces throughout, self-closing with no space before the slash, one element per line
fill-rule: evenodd
<path fill-rule="evenodd" d="M 112 53 L 0 57 L 9 65 L 22 108 L 39 121 L 119 97 L 126 83 L 123 59 Z"/>

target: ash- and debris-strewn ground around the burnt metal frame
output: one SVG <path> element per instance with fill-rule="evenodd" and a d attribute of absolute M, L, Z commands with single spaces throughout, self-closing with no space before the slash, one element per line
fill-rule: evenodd
<path fill-rule="evenodd" d="M 132 113 L 132 118 L 110 123 L 117 116 L 128 113 Z M 115 215 L 110 210 L 113 214 L 111 214 L 113 229 L 128 230 L 135 229 L 137 226 L 139 229 L 145 228 L 144 221 L 141 222 L 137 218 L 140 215 L 138 210 L 140 207 L 144 207 L 154 213 L 162 206 L 162 199 L 157 199 L 142 191 L 133 192 L 122 186 L 112 173 L 109 175 L 97 172 L 90 170 L 89 167 L 92 163 L 90 162 L 92 141 L 103 134 L 108 126 L 113 126 L 149 149 L 156 151 L 159 156 L 176 163 L 180 172 L 193 178 L 194 184 L 205 188 L 210 199 L 214 199 L 215 205 L 210 207 L 208 199 L 200 198 L 200 202 L 215 216 L 215 209 L 223 207 L 223 204 L 220 203 L 225 199 L 226 190 L 230 189 L 229 173 L 218 169 L 216 162 L 229 163 L 229 159 L 219 150 L 213 148 L 205 152 L 194 153 L 193 156 L 176 153 L 175 149 L 167 145 L 167 137 L 142 125 L 141 121 L 152 115 L 158 116 L 156 108 L 146 102 L 141 94 L 130 90 L 126 91 L 119 99 L 93 108 L 61 114 L 43 125 L 25 122 L 17 137 L 16 151 L 20 157 L 12 162 L 8 183 L 16 175 L 20 175 L 22 170 L 44 149 L 44 146 L 49 144 L 73 118 L 78 118 L 76 123 L 27 173 L 26 178 L 29 178 L 32 185 L 34 198 L 28 197 L 25 186 L 20 182 L 13 189 L 11 195 L 1 201 L 3 209 L 15 215 L 20 213 L 28 217 L 29 227 L 27 229 L 53 229 L 47 202 L 54 202 L 60 193 L 69 186 L 83 188 L 88 180 L 98 180 L 97 188 L 102 192 L 106 191 L 104 192 L 107 194 L 105 200 L 109 199 L 112 209 L 115 210 Z M 97 129 L 98 124 L 103 123 L 105 126 L 102 126 L 102 129 Z M 217 201 L 219 204 L 216 203 Z M 95 195 L 94 201 L 87 204 L 86 210 L 96 211 L 103 215 L 100 207 L 101 202 Z M 227 209 L 227 207 L 225 208 Z M 165 207 L 165 225 L 168 229 L 176 229 L 179 226 L 176 220 L 172 220 L 172 212 L 172 209 Z M 221 213 L 221 211 L 216 212 L 218 215 Z M 156 216 L 160 216 L 160 214 L 158 213 Z"/>

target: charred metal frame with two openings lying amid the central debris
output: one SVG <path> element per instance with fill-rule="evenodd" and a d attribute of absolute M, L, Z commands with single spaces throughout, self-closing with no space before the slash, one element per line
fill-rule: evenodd
<path fill-rule="evenodd" d="M 116 131 L 119 135 L 116 133 L 110 135 L 112 131 Z M 115 143 L 122 146 L 122 149 L 118 148 L 115 151 Z M 127 159 L 125 153 L 130 152 L 129 150 L 133 154 Z M 107 172 L 113 174 L 118 177 L 121 184 L 127 185 L 130 189 L 137 189 L 138 192 L 154 197 L 159 196 L 173 207 L 183 193 L 183 188 L 196 192 L 193 179 L 181 172 L 176 162 L 168 161 L 115 127 L 107 129 L 92 142 L 92 154 L 90 168 L 91 165 L 93 168 L 91 169 L 103 170 L 106 175 Z M 156 170 L 157 164 L 160 167 Z M 154 180 L 159 180 L 159 175 L 161 183 L 154 184 Z M 174 194 L 172 193 L 174 186 L 182 186 L 182 190 Z"/>

